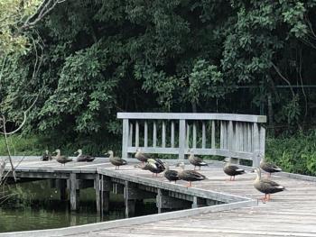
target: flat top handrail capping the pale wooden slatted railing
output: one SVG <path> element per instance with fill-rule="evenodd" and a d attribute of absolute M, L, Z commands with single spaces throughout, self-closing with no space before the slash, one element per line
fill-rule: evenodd
<path fill-rule="evenodd" d="M 189 113 L 117 113 L 118 119 L 170 119 L 170 120 L 225 120 L 266 123 L 265 115 L 249 114 L 189 114 Z"/>

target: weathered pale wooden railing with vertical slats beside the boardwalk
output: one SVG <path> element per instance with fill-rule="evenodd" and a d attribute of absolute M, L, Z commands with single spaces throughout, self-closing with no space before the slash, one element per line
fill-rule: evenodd
<path fill-rule="evenodd" d="M 197 155 L 253 160 L 265 155 L 266 116 L 247 114 L 117 113 L 123 119 L 122 157 L 144 153 Z M 260 154 L 260 155 L 259 155 Z"/>

